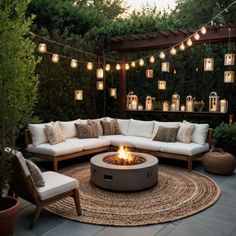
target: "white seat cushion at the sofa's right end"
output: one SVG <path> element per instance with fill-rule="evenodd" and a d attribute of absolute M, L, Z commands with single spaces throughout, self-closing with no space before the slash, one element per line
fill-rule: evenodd
<path fill-rule="evenodd" d="M 202 152 L 209 150 L 208 143 L 198 144 L 198 143 L 165 143 L 161 144 L 161 152 L 174 153 L 186 156 L 194 156 Z"/>

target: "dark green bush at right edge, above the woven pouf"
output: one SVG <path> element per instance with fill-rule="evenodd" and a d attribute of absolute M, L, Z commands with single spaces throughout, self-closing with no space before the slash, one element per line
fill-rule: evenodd
<path fill-rule="evenodd" d="M 222 122 L 213 132 L 213 137 L 217 141 L 217 147 L 236 156 L 236 123 L 226 124 Z"/>

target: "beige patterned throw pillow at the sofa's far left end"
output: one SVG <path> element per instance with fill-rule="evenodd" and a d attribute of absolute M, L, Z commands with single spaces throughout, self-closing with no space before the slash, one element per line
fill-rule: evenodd
<path fill-rule="evenodd" d="M 54 145 L 65 141 L 60 125 L 57 121 L 52 124 L 45 125 L 45 127 L 45 132 L 50 144 Z"/>

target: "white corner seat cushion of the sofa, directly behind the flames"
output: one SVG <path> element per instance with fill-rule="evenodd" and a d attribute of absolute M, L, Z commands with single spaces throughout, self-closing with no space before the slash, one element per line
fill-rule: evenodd
<path fill-rule="evenodd" d="M 120 145 L 123 145 L 126 147 L 134 147 L 134 144 L 132 140 L 130 139 L 130 136 L 106 135 L 106 136 L 99 136 L 99 139 L 109 140 L 110 144 L 116 147 L 119 147 Z"/>

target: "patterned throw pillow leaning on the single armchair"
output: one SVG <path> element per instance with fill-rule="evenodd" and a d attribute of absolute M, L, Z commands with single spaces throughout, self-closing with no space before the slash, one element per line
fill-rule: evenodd
<path fill-rule="evenodd" d="M 25 159 L 26 165 L 29 169 L 30 175 L 37 188 L 45 186 L 45 180 L 43 178 L 41 170 L 32 161 Z"/>

